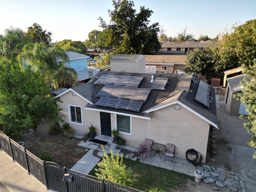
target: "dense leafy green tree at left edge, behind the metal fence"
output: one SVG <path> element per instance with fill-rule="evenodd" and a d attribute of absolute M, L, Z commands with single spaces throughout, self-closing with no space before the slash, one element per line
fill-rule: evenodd
<path fill-rule="evenodd" d="M 44 77 L 16 60 L 0 60 L 0 124 L 10 136 L 35 127 L 41 117 L 58 116 L 56 100 L 51 100 Z"/>

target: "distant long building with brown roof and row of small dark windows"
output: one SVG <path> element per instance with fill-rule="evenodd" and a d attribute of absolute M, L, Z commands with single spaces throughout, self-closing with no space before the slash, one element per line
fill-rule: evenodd
<path fill-rule="evenodd" d="M 186 54 L 195 49 L 206 50 L 212 41 L 160 42 L 161 49 L 156 54 Z"/>

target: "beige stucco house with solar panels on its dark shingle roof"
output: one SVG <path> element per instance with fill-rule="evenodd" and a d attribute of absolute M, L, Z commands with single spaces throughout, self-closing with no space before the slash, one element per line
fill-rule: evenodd
<path fill-rule="evenodd" d="M 134 70 L 129 57 L 114 56 L 120 68 Z M 144 56 L 135 57 L 137 64 L 144 60 L 136 67 L 145 68 Z M 113 63 L 119 70 L 117 61 L 111 62 L 111 70 Z M 176 157 L 186 159 L 186 151 L 193 148 L 202 154 L 202 163 L 210 126 L 218 128 L 215 90 L 192 75 L 100 71 L 88 83 L 56 97 L 62 101 L 57 103 L 59 115 L 76 134 L 88 132 L 91 124 L 96 134 L 106 136 L 117 129 L 130 146 L 137 147 L 145 138 L 172 143 Z"/>

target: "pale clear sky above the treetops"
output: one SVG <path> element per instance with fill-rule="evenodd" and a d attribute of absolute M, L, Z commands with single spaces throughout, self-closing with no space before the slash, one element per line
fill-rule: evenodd
<path fill-rule="evenodd" d="M 165 34 L 174 37 L 187 28 L 195 38 L 215 38 L 234 24 L 256 19 L 256 0 L 133 0 L 154 13 L 150 24 L 158 22 Z M 52 33 L 52 42 L 71 39 L 84 41 L 92 30 L 103 30 L 99 17 L 108 24 L 112 0 L 0 0 L 0 34 L 4 29 L 24 32 L 33 23 Z"/>

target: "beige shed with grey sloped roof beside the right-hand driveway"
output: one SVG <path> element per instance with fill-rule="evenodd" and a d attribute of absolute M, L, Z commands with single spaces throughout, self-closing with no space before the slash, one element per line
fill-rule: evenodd
<path fill-rule="evenodd" d="M 246 106 L 240 102 L 240 100 L 237 100 L 234 98 L 235 94 L 242 93 L 242 89 L 244 88 L 240 82 L 244 78 L 249 78 L 248 76 L 241 74 L 238 76 L 234 76 L 227 79 L 227 88 L 226 88 L 226 104 L 228 109 L 228 114 L 232 115 L 248 115 L 248 112 L 246 112 Z M 250 78 L 249 78 L 250 79 Z"/>

